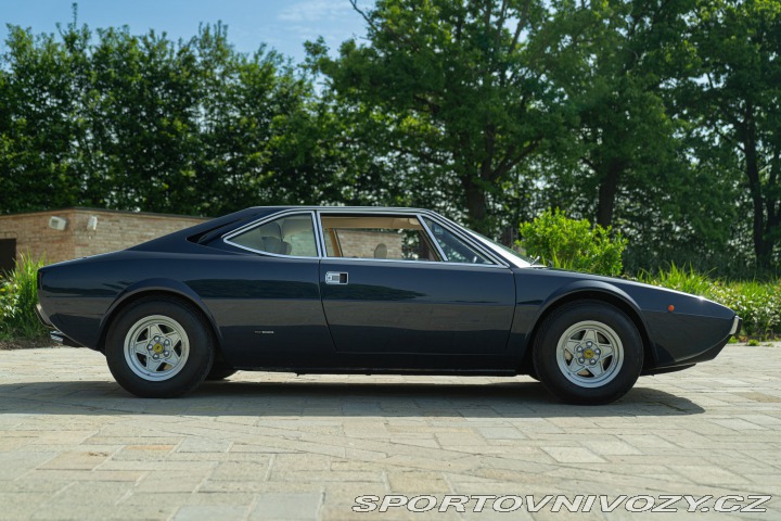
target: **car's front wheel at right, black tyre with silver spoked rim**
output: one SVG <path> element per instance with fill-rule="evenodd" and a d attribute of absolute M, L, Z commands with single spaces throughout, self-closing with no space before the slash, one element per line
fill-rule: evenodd
<path fill-rule="evenodd" d="M 561 401 L 607 404 L 637 382 L 643 344 L 635 323 L 618 308 L 577 301 L 546 318 L 533 358 L 540 382 Z"/>

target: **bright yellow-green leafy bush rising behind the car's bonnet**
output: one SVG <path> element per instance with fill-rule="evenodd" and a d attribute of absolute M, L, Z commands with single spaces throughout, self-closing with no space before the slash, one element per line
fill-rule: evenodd
<path fill-rule="evenodd" d="M 622 274 L 627 241 L 610 227 L 571 219 L 556 208 L 522 224 L 520 232 L 518 245 L 526 255 L 539 256 L 556 268 L 613 277 Z"/>

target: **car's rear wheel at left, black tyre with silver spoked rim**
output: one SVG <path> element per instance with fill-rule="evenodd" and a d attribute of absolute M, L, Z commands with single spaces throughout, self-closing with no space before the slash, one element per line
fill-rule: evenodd
<path fill-rule="evenodd" d="M 215 341 L 190 303 L 143 298 L 114 319 L 105 355 L 108 369 L 126 391 L 144 398 L 172 398 L 204 381 L 214 361 Z"/>

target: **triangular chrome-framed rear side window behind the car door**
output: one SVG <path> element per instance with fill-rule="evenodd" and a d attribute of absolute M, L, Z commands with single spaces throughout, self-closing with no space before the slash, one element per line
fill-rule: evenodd
<path fill-rule="evenodd" d="M 310 214 L 281 217 L 230 237 L 226 242 L 276 255 L 318 256 L 315 226 Z"/>

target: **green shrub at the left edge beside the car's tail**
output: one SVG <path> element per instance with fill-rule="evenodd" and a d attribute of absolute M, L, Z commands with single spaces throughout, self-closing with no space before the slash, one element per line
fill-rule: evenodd
<path fill-rule="evenodd" d="M 37 339 L 44 336 L 46 327 L 38 320 L 38 268 L 43 260 L 22 255 L 13 271 L 0 274 L 0 338 Z"/>

